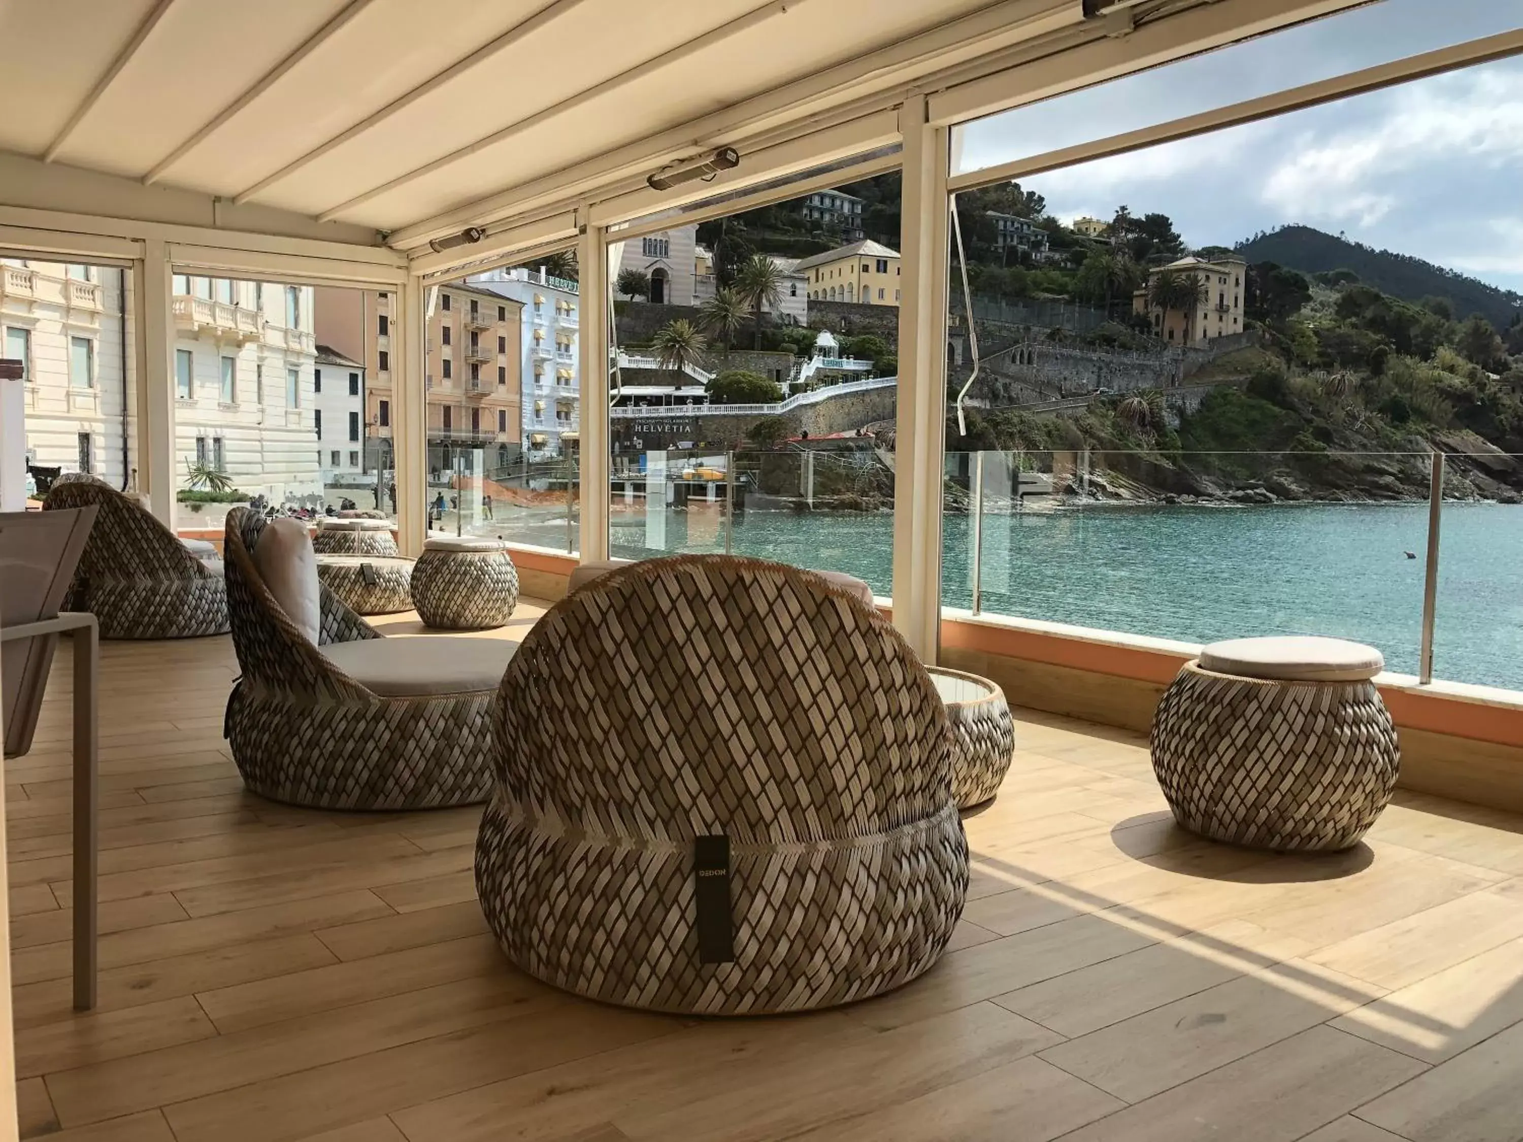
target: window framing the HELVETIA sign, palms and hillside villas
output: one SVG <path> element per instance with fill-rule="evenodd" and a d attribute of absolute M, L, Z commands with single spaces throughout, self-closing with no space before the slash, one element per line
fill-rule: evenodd
<path fill-rule="evenodd" d="M 638 224 L 635 224 L 638 225 Z M 892 589 L 900 175 L 609 244 L 609 551 Z"/>

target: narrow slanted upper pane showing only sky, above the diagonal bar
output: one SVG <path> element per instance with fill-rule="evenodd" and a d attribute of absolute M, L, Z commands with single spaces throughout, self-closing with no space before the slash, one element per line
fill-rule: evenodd
<path fill-rule="evenodd" d="M 1109 139 L 1517 26 L 1512 3 L 1383 0 L 959 123 L 952 128 L 952 174 Z"/>

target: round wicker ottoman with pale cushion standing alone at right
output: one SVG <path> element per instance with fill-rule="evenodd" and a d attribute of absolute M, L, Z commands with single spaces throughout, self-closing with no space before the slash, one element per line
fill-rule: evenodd
<path fill-rule="evenodd" d="M 1380 652 L 1336 638 L 1243 638 L 1186 662 L 1153 716 L 1153 770 L 1193 833 L 1337 851 L 1390 801 L 1397 731 Z"/>

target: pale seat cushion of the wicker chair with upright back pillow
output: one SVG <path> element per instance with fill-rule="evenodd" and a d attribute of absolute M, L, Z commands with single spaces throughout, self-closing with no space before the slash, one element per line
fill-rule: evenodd
<path fill-rule="evenodd" d="M 385 697 L 437 697 L 496 690 L 518 643 L 503 638 L 370 638 L 329 643 L 323 658 Z"/>

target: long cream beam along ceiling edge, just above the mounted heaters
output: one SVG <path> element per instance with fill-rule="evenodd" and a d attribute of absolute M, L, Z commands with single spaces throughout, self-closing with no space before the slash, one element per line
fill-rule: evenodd
<path fill-rule="evenodd" d="M 466 225 L 480 225 L 483 221 L 496 221 L 548 207 L 560 199 L 585 196 L 591 187 L 602 190 L 617 180 L 637 174 L 643 180 L 663 163 L 687 158 L 714 146 L 736 145 L 743 139 L 736 134 L 740 131 L 760 132 L 786 126 L 853 100 L 864 104 L 877 100 L 873 107 L 864 105 L 862 113 L 891 107 L 905 87 L 924 75 L 964 64 L 1011 44 L 1060 32 L 1081 21 L 1078 0 L 999 0 L 929 32 L 867 52 L 554 175 L 507 187 L 434 218 L 398 227 L 390 242 L 399 248 L 411 248 Z M 612 192 L 626 189 L 629 187 L 615 186 Z"/>

